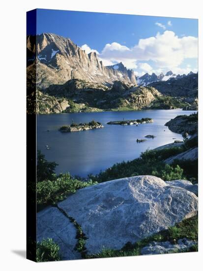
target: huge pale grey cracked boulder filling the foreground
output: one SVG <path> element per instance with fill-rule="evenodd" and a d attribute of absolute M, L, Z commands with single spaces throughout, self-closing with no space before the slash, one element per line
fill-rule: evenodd
<path fill-rule="evenodd" d="M 56 207 L 38 213 L 38 239 L 56 238 L 59 246 L 68 246 L 67 254 L 73 253 L 76 234 L 69 228 L 68 214 L 87 237 L 87 254 L 94 254 L 103 248 L 121 249 L 196 215 L 198 198 L 155 176 L 135 176 L 80 189 L 58 208 L 63 213 L 57 210 L 58 219 Z"/>

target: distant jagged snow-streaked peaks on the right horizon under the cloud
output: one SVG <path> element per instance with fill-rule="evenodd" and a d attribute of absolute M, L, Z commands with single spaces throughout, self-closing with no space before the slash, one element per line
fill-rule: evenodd
<path fill-rule="evenodd" d="M 194 72 L 190 71 L 187 75 L 192 75 L 192 74 L 195 74 Z M 144 75 L 142 76 L 136 76 L 136 81 L 137 81 L 137 84 L 139 86 L 147 86 L 151 83 L 154 83 L 154 82 L 159 82 L 159 81 L 168 81 L 168 80 L 171 80 L 173 78 L 177 78 L 177 79 L 180 79 L 180 78 L 183 78 L 185 76 L 187 76 L 186 74 L 174 74 L 172 70 L 169 70 L 167 71 L 167 73 L 164 75 L 163 72 L 161 72 L 159 75 L 156 75 L 154 72 L 150 75 L 148 73 L 145 73 Z"/>

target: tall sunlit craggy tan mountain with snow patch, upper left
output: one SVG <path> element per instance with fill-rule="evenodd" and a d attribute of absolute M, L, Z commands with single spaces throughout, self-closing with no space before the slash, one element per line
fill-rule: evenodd
<path fill-rule="evenodd" d="M 27 37 L 27 65 L 36 65 L 36 85 L 41 90 L 74 78 L 105 86 L 113 85 L 116 80 L 137 85 L 134 71 L 122 63 L 104 67 L 95 52 L 87 54 L 69 38 L 56 34 L 43 33 L 36 39 Z"/>

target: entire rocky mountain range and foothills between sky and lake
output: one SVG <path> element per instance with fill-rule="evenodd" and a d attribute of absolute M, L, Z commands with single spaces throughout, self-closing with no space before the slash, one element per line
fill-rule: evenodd
<path fill-rule="evenodd" d="M 138 83 L 138 84 L 137 84 Z M 36 91 L 37 90 L 37 91 Z M 27 108 L 42 114 L 198 108 L 198 73 L 137 77 L 122 63 L 104 67 L 69 38 L 27 38 Z"/>

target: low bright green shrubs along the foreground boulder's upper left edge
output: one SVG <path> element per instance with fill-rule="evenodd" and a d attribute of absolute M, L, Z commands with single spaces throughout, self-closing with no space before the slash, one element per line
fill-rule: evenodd
<path fill-rule="evenodd" d="M 54 204 L 64 200 L 68 194 L 75 193 L 77 189 L 96 184 L 92 180 L 79 181 L 69 173 L 60 174 L 54 181 L 45 180 L 37 183 L 37 204 Z"/>

